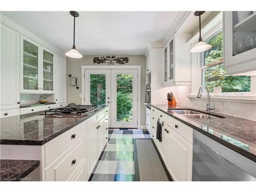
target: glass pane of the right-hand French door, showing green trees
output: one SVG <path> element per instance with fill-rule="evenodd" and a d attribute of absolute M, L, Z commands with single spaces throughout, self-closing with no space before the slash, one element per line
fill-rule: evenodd
<path fill-rule="evenodd" d="M 133 121 L 133 74 L 117 74 L 116 121 Z"/>

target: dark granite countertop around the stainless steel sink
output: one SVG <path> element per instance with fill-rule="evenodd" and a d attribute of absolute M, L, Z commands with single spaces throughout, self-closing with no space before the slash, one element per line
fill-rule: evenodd
<path fill-rule="evenodd" d="M 212 114 L 225 118 L 188 118 L 168 109 L 192 109 L 202 113 L 205 112 L 181 105 L 168 106 L 164 104 L 152 104 L 151 106 L 256 162 L 256 121 L 218 113 Z"/>

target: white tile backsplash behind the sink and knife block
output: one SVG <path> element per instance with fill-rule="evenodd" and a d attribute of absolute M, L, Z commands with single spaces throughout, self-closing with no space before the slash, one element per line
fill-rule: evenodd
<path fill-rule="evenodd" d="M 203 98 L 190 99 L 187 97 L 187 95 L 189 95 L 190 93 L 191 93 L 190 86 L 176 86 L 174 95 L 175 95 L 177 104 L 189 106 L 191 108 L 197 108 L 200 110 L 205 110 L 206 100 Z M 162 93 L 162 94 L 165 94 L 165 93 Z M 221 113 L 225 115 L 231 115 L 231 116 L 236 116 L 236 117 L 256 121 L 256 103 L 237 102 L 234 100 L 222 101 L 218 99 L 214 99 L 213 101 L 212 99 L 211 104 L 213 104 L 213 102 L 215 102 L 216 109 L 214 110 L 214 112 L 216 113 Z M 167 103 L 167 100 L 159 101 L 159 103 L 153 103 L 153 104 L 163 104 L 163 103 Z"/>

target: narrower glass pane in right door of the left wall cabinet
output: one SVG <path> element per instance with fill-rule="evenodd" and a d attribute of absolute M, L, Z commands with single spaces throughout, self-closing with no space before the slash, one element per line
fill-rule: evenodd
<path fill-rule="evenodd" d="M 48 51 L 44 50 L 43 52 L 44 58 L 43 58 L 43 82 L 44 86 L 43 89 L 47 91 L 53 91 L 53 54 L 49 53 Z"/>

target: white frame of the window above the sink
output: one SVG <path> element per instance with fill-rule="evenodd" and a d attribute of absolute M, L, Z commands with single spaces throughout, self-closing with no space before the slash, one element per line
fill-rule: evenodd
<path fill-rule="evenodd" d="M 221 27 L 218 27 L 217 29 L 215 29 L 214 31 L 211 31 L 207 34 L 205 34 L 205 36 L 207 36 L 207 38 L 204 39 L 205 42 L 207 42 L 208 40 L 210 40 L 211 38 L 215 37 L 216 35 L 218 35 L 219 33 L 223 32 L 223 27 L 221 25 Z M 212 66 L 216 66 L 216 65 L 219 65 L 220 63 L 223 63 L 223 62 L 220 62 L 220 63 L 214 63 L 214 64 L 209 64 L 208 66 L 204 66 L 204 52 L 201 52 L 199 53 L 200 54 L 200 62 L 198 63 L 199 65 L 199 76 L 200 76 L 200 84 L 201 86 L 203 84 L 205 84 L 205 81 L 204 81 L 204 73 L 203 73 L 203 70 L 204 69 L 207 69 L 209 67 L 212 67 Z M 223 58 L 224 59 L 224 36 L 223 36 Z M 221 93 L 220 96 L 234 96 L 234 95 L 249 95 L 249 96 L 254 96 L 256 95 L 256 76 L 251 76 L 251 82 L 250 82 L 250 92 L 225 92 L 225 93 Z M 206 92 L 205 92 L 205 89 L 202 89 L 202 95 L 206 95 Z M 210 93 L 210 95 L 212 95 L 212 92 Z"/>

